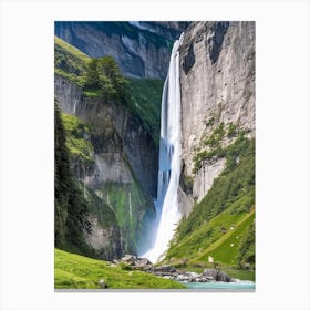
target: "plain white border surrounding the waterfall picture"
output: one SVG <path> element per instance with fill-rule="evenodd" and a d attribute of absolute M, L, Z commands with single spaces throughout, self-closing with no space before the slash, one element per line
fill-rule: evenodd
<path fill-rule="evenodd" d="M 310 309 L 309 2 L 1 2 L 1 309 Z M 256 20 L 255 293 L 53 291 L 53 21 Z"/>

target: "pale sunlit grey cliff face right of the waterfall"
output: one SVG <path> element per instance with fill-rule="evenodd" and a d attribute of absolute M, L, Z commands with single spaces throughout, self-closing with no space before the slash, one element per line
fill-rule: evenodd
<path fill-rule="evenodd" d="M 193 22 L 180 46 L 183 184 L 180 207 L 188 215 L 225 167 L 225 159 L 204 161 L 194 169 L 198 152 L 213 143 L 226 146 L 234 134 L 255 135 L 255 22 Z M 223 124 L 223 125 L 220 125 Z"/>

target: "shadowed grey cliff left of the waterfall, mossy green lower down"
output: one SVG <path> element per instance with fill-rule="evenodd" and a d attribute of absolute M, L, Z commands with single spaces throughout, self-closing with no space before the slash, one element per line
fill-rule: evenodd
<path fill-rule="evenodd" d="M 73 161 L 75 177 L 115 213 L 122 252 L 136 252 L 149 241 L 146 226 L 155 218 L 152 196 L 156 196 L 158 149 L 149 133 L 124 106 L 85 97 L 78 85 L 59 75 L 54 82 L 61 110 L 82 120 L 91 130 L 85 138 L 93 145 L 93 161 Z M 102 227 L 99 217 L 93 214 L 92 234 L 86 237 L 100 251 L 100 246 L 115 237 L 115 229 Z M 115 242 L 111 244 L 104 257 L 115 254 Z"/>

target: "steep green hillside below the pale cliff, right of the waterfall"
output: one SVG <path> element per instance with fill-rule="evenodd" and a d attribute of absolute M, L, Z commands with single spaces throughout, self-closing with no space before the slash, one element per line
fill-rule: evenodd
<path fill-rule="evenodd" d="M 211 267 L 213 257 L 234 277 L 238 269 L 255 269 L 255 140 L 240 133 L 219 157 L 226 158 L 226 168 L 180 221 L 165 260 Z M 252 271 L 246 273 L 254 278 Z"/>

